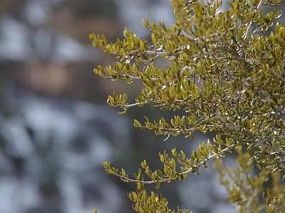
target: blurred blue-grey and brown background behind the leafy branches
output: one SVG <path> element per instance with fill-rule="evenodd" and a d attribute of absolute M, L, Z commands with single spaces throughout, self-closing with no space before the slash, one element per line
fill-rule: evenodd
<path fill-rule="evenodd" d="M 103 160 L 132 174 L 144 159 L 159 167 L 159 151 L 190 153 L 212 137 L 163 141 L 133 128 L 133 118 L 162 112 L 119 115 L 105 102 L 113 90 L 132 99 L 141 85 L 93 74 L 114 58 L 92 48 L 88 34 L 115 40 L 127 27 L 147 38 L 145 17 L 170 25 L 170 1 L 0 0 L 0 213 L 133 212 L 127 192 L 135 185 L 107 175 Z M 174 209 L 237 212 L 212 168 L 159 192 Z"/>

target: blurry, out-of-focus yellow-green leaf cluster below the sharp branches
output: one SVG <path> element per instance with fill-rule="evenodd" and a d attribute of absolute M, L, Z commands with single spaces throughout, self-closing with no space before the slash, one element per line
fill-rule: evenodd
<path fill-rule="evenodd" d="M 239 212 L 285 212 L 285 185 L 280 183 L 280 173 L 262 170 L 252 175 L 252 155 L 237 148 L 237 168 L 222 165 L 222 159 L 215 164 L 219 178 L 229 192 L 229 201 L 235 202 Z"/>

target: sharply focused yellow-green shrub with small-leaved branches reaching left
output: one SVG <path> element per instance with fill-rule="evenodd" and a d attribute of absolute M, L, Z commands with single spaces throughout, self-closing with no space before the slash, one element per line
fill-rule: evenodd
<path fill-rule="evenodd" d="M 261 6 L 275 6 L 279 1 L 232 0 L 224 10 L 219 0 L 172 0 L 171 3 L 176 22 L 169 28 L 163 22 L 142 21 L 150 31 L 149 41 L 126 29 L 125 38 L 115 43 L 108 43 L 104 35 L 90 35 L 95 48 L 118 58 L 113 66 L 99 65 L 94 70 L 96 74 L 128 84 L 141 80 L 144 86 L 133 103 L 128 102 L 126 94 L 114 92 L 108 97 L 111 107 L 120 107 L 121 113 L 125 113 L 130 107 L 151 104 L 185 114 L 170 121 L 164 118 L 150 121 L 145 117 L 143 123 L 134 120 L 135 127 L 167 137 L 179 134 L 188 137 L 195 131 L 218 133 L 215 143 L 201 143 L 192 152 L 178 152 L 174 148 L 172 157 L 160 153 L 164 170 L 152 171 L 143 160 L 143 174 L 139 169 L 135 178 L 104 162 L 108 173 L 140 185 L 137 192 L 129 194 L 137 212 L 171 212 L 167 202 L 155 192 L 147 195 L 144 185 L 159 187 L 162 182 L 184 181 L 188 174 L 199 173 L 201 166 L 206 167 L 207 160 L 222 158 L 240 146 L 247 152 L 245 156 L 251 156 L 246 160 L 253 160 L 261 173 L 249 180 L 238 178 L 240 182 L 234 182 L 234 189 L 245 181 L 247 186 L 259 188 L 259 193 L 269 174 L 285 171 L 285 27 L 277 23 L 268 36 L 259 33 L 268 31 L 281 16 L 281 11 L 276 10 L 264 13 Z M 168 62 L 169 67 L 157 67 L 157 58 Z M 244 175 L 244 170 L 237 169 L 234 173 Z M 259 180 L 260 185 L 251 185 L 252 180 Z M 244 190 L 230 190 L 227 182 L 223 183 L 232 197 Z M 244 199 L 250 200 L 251 193 L 243 194 L 248 196 Z M 266 195 L 268 205 L 264 209 L 268 212 L 275 208 L 269 206 L 278 208 L 278 199 L 272 198 L 279 197 L 278 193 L 272 191 Z M 249 205 L 235 198 L 231 200 L 241 209 Z M 252 208 L 259 209 L 258 202 L 250 202 Z"/>

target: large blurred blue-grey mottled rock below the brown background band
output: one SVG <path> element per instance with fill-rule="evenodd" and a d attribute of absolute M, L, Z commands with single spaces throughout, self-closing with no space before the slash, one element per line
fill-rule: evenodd
<path fill-rule="evenodd" d="M 0 212 L 92 212 L 97 205 L 123 211 L 121 190 L 98 172 L 113 148 L 128 146 L 123 118 L 105 107 L 19 91 L 9 94 L 10 104 L 21 107 L 0 120 Z"/>

